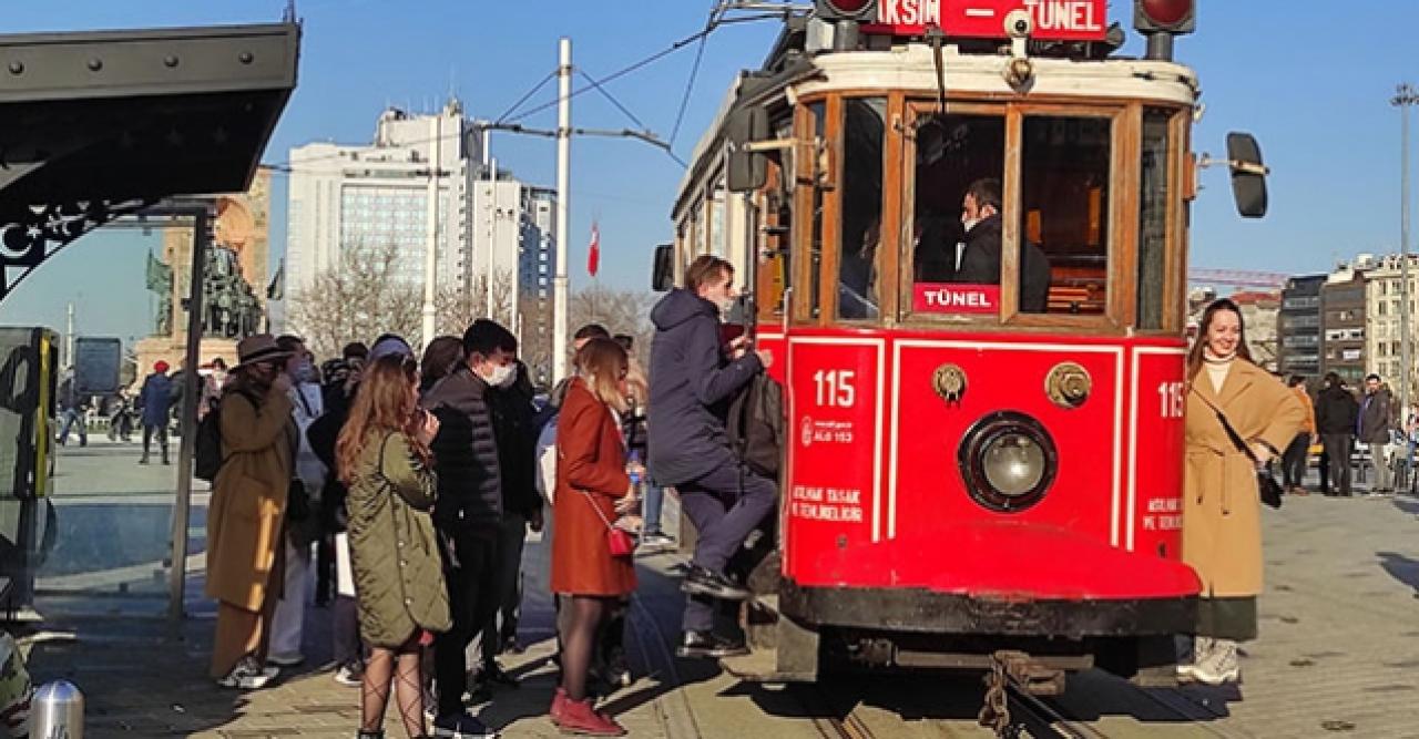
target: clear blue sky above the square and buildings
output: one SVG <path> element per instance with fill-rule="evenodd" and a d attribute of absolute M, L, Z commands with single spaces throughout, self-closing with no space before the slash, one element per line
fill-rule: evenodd
<path fill-rule="evenodd" d="M 1131 23 L 1132 4 L 1112 0 L 1111 20 Z M 272 21 L 284 0 L 55 0 L 9 3 L 6 31 Z M 471 116 L 495 118 L 556 65 L 556 40 L 573 40 L 575 64 L 606 75 L 704 26 L 710 0 L 305 0 L 301 78 L 263 157 L 285 162 L 312 140 L 366 142 L 386 105 L 433 109 L 450 89 Z M 1419 82 L 1412 30 L 1419 3 L 1354 0 L 1345 6 L 1283 0 L 1203 3 L 1198 33 L 1178 41 L 1179 61 L 1202 78 L 1206 115 L 1193 130 L 1198 152 L 1225 150 L 1227 130 L 1257 135 L 1273 167 L 1271 211 L 1236 217 L 1220 169 L 1203 174 L 1193 207 L 1192 264 L 1208 268 L 1314 272 L 1358 251 L 1399 243 L 1398 82 Z M 681 157 L 710 122 L 736 70 L 758 65 L 778 28 L 732 26 L 710 37 L 694 95 L 674 145 Z M 1130 31 L 1125 52 L 1141 41 Z M 671 135 L 694 45 L 609 89 L 663 138 Z M 534 102 L 551 101 L 552 85 Z M 576 98 L 586 128 L 637 128 L 603 96 Z M 555 111 L 528 118 L 555 126 Z M 1415 121 L 1419 145 L 1419 116 Z M 1419 149 L 1419 146 L 1416 146 Z M 494 135 L 502 167 L 555 184 L 546 139 Z M 668 213 L 683 170 L 663 152 L 613 139 L 578 139 L 572 165 L 573 288 L 586 278 L 586 243 L 596 218 L 602 275 L 616 287 L 648 282 L 650 247 L 667 241 Z M 285 177 L 272 207 L 272 251 L 285 247 Z M 133 338 L 150 328 L 143 254 L 158 237 L 96 233 L 68 247 L 0 304 L 0 322 L 64 326 L 78 304 L 78 330 Z"/>

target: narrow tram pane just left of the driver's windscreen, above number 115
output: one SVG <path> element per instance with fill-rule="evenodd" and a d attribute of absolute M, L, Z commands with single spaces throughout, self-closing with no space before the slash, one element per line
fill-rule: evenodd
<path fill-rule="evenodd" d="M 877 244 L 883 216 L 883 135 L 887 99 L 843 101 L 843 250 L 837 318 L 877 318 Z"/>

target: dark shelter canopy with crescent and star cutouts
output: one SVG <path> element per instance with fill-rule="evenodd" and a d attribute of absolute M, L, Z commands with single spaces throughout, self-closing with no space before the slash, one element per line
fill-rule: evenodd
<path fill-rule="evenodd" d="M 115 217 L 245 190 L 298 51 L 295 23 L 0 35 L 0 301 Z"/>

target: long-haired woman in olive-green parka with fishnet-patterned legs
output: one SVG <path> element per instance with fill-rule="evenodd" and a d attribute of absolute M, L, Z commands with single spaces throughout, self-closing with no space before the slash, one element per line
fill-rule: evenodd
<path fill-rule="evenodd" d="M 410 738 L 424 736 L 420 655 L 433 631 L 450 626 L 430 509 L 434 472 L 429 441 L 438 420 L 419 409 L 419 365 L 402 355 L 366 367 L 336 441 L 349 485 L 350 569 L 360 637 L 370 647 L 362 694 L 362 739 L 385 733 L 390 684 Z"/>

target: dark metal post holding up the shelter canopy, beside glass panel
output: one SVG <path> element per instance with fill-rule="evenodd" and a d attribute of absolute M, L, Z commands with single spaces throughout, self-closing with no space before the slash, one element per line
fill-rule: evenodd
<path fill-rule="evenodd" d="M 207 241 L 210 240 L 211 206 L 193 206 L 192 224 L 192 271 L 187 278 L 187 350 L 183 359 L 184 383 L 182 394 L 182 418 L 177 427 L 182 438 L 177 441 L 177 499 L 173 502 L 173 550 L 169 572 L 167 617 L 173 624 L 184 616 L 183 599 L 187 586 L 187 525 L 192 518 L 192 454 L 197 431 L 197 396 L 200 390 L 197 374 L 197 350 L 201 346 L 201 284 L 206 279 Z"/>

